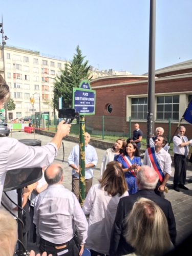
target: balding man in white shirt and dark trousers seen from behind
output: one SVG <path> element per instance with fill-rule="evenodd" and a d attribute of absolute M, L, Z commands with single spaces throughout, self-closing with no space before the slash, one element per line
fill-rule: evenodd
<path fill-rule="evenodd" d="M 40 236 L 40 251 L 47 253 L 81 256 L 86 243 L 88 222 L 75 195 L 63 185 L 62 166 L 52 164 L 45 171 L 48 188 L 35 199 L 34 219 Z M 80 252 L 74 241 L 77 230 Z"/>

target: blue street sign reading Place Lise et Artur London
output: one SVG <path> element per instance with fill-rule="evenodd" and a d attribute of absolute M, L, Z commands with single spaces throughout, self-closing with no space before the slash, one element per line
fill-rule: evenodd
<path fill-rule="evenodd" d="M 96 91 L 91 90 L 88 80 L 80 83 L 80 88 L 73 88 L 73 108 L 81 116 L 95 115 Z"/>

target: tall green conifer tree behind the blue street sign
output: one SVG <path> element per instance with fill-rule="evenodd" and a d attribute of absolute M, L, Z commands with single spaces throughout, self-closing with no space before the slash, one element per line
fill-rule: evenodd
<path fill-rule="evenodd" d="M 54 84 L 54 104 L 58 110 L 58 98 L 62 97 L 62 108 L 71 108 L 73 104 L 73 88 L 79 87 L 82 79 L 91 80 L 90 67 L 86 56 L 82 56 L 79 46 L 73 60 L 66 62 L 65 69 L 61 70 L 60 77 L 57 77 Z M 83 62 L 84 61 L 84 62 Z"/>

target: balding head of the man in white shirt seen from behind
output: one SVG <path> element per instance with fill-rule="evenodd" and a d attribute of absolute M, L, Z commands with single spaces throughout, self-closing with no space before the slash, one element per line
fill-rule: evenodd
<path fill-rule="evenodd" d="M 63 170 L 60 164 L 51 164 L 44 173 L 45 180 L 49 185 L 54 185 L 61 182 Z"/>

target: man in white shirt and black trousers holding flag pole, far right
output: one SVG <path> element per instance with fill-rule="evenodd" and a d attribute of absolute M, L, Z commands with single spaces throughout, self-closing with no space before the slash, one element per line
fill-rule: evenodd
<path fill-rule="evenodd" d="M 180 192 L 179 188 L 183 188 L 188 190 L 188 187 L 185 186 L 186 180 L 186 172 L 188 165 L 188 152 L 189 145 L 192 145 L 192 140 L 187 139 L 185 134 L 185 127 L 180 126 L 178 128 L 178 135 L 174 136 L 174 165 L 175 165 L 175 173 L 174 173 L 174 190 Z"/>

